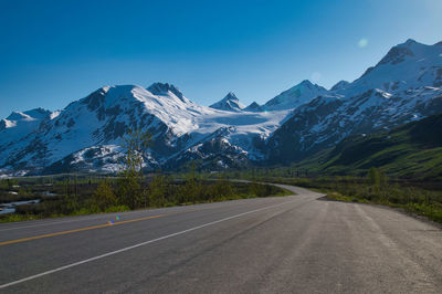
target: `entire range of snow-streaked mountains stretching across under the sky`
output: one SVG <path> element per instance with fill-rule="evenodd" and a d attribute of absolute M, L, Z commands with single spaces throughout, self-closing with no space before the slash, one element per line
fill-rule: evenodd
<path fill-rule="evenodd" d="M 0 120 L 0 174 L 120 169 L 123 137 L 146 129 L 147 169 L 207 170 L 306 160 L 354 136 L 442 113 L 442 42 L 393 46 L 349 83 L 326 90 L 303 81 L 264 105 L 229 93 L 210 107 L 176 86 L 104 86 L 60 112 L 13 112 Z"/>

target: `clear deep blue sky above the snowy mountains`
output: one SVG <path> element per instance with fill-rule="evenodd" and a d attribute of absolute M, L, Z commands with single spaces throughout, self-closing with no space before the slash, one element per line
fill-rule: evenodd
<path fill-rule="evenodd" d="M 264 103 L 352 81 L 409 38 L 442 41 L 442 0 L 0 0 L 0 118 L 114 84 Z"/>

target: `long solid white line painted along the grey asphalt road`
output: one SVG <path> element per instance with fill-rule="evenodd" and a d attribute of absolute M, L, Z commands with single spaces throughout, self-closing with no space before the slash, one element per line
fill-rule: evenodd
<path fill-rule="evenodd" d="M 231 219 L 236 219 L 236 218 L 240 218 L 240 217 L 253 213 L 253 212 L 259 212 L 259 211 L 262 211 L 262 210 L 265 210 L 265 209 L 284 206 L 284 204 L 287 204 L 287 203 L 291 203 L 291 202 L 294 202 L 294 201 L 296 201 L 296 200 L 285 201 L 285 202 L 282 202 L 282 203 L 277 203 L 277 204 L 273 204 L 273 206 L 269 206 L 269 207 L 264 207 L 264 208 L 260 208 L 260 209 L 250 210 L 250 211 L 242 212 L 242 213 L 239 213 L 239 214 L 235 214 L 235 216 L 231 216 L 231 217 L 228 217 L 228 218 L 223 218 L 223 219 L 220 219 L 220 220 L 217 220 L 217 221 L 212 221 L 212 222 L 208 222 L 208 223 L 204 223 L 204 224 L 201 224 L 201 225 L 197 225 L 197 227 L 183 230 L 183 231 L 179 231 L 179 232 L 167 234 L 167 235 L 164 235 L 164 237 L 160 237 L 160 238 L 157 238 L 157 239 L 152 239 L 152 240 L 149 240 L 149 241 L 146 241 L 146 242 L 141 242 L 141 243 L 138 243 L 138 244 L 135 244 L 135 245 L 131 245 L 131 246 L 127 246 L 127 248 L 123 248 L 123 249 L 119 249 L 119 250 L 110 251 L 110 252 L 107 252 L 107 253 L 104 253 L 102 255 L 97 255 L 97 256 L 94 256 L 94 258 L 91 258 L 91 259 L 87 259 L 87 260 L 82 260 L 82 261 L 74 262 L 74 263 L 71 263 L 71 264 L 67 264 L 67 265 L 64 265 L 64 266 L 60 266 L 60 267 L 56 267 L 56 269 L 53 269 L 53 270 L 50 270 L 50 271 L 46 271 L 46 272 L 42 272 L 42 273 L 34 274 L 34 275 L 31 275 L 31 276 L 28 276 L 28 277 L 23 277 L 23 279 L 7 283 L 7 284 L 2 284 L 2 285 L 0 285 L 0 288 L 6 288 L 6 287 L 9 287 L 9 286 L 13 286 L 13 285 L 23 283 L 23 282 L 27 282 L 27 281 L 31 281 L 31 280 L 34 280 L 34 279 L 38 279 L 38 277 L 41 277 L 41 276 L 44 276 L 44 275 L 49 275 L 49 274 L 52 274 L 52 273 L 64 271 L 64 270 L 67 270 L 67 269 L 71 269 L 71 267 L 74 267 L 74 266 L 77 266 L 77 265 L 81 265 L 81 264 L 85 264 L 85 263 L 88 263 L 88 262 L 92 262 L 92 261 L 101 260 L 101 259 L 104 259 L 104 258 L 107 258 L 107 256 L 110 256 L 110 255 L 115 255 L 115 254 L 118 254 L 118 253 L 122 253 L 122 252 L 125 252 L 125 251 L 129 251 L 129 250 L 133 250 L 133 249 L 136 249 L 136 248 L 139 248 L 139 246 L 144 246 L 144 245 L 147 245 L 147 244 L 150 244 L 150 243 L 155 243 L 155 242 L 158 242 L 158 241 L 161 241 L 161 240 L 165 240 L 165 239 L 169 239 L 169 238 L 172 238 L 172 237 L 176 237 L 176 235 L 185 234 L 185 233 L 188 233 L 188 232 L 191 232 L 191 231 L 194 231 L 194 230 L 199 230 L 199 229 L 202 229 L 202 228 L 206 228 L 206 227 L 209 227 L 209 225 L 213 225 L 213 224 L 217 224 L 217 223 L 220 223 L 220 222 L 223 222 L 223 221 L 228 221 L 228 220 L 231 220 Z M 166 214 L 162 214 L 162 216 L 166 216 Z"/>

